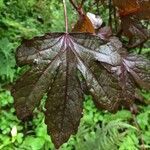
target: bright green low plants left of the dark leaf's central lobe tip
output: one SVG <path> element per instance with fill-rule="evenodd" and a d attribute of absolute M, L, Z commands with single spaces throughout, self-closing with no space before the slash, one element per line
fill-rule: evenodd
<path fill-rule="evenodd" d="M 0 93 L 0 149 L 41 150 L 52 148 L 47 135 L 43 113 L 37 112 L 32 122 L 21 123 L 12 107 L 13 98 L 9 91 Z M 26 131 L 28 130 L 28 131 Z"/>

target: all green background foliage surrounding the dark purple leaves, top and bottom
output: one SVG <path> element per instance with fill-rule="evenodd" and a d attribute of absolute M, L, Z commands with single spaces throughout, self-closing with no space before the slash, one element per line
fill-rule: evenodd
<path fill-rule="evenodd" d="M 76 13 L 67 3 L 70 29 L 76 22 Z M 88 0 L 85 9 L 96 12 Z M 101 12 L 107 20 L 107 11 Z M 63 6 L 55 0 L 0 0 L 0 150 L 50 150 L 54 149 L 44 114 L 35 110 L 30 122 L 17 119 L 11 93 L 2 89 L 12 83 L 25 68 L 16 66 L 15 51 L 24 38 L 32 38 L 46 32 L 64 31 Z M 143 53 L 149 48 L 143 49 Z M 143 91 L 146 101 L 150 94 Z M 130 111 L 122 109 L 115 114 L 99 111 L 92 97 L 85 95 L 83 118 L 78 133 L 61 146 L 62 150 L 138 150 L 144 141 L 150 149 L 150 106 L 138 105 L 134 118 Z M 140 125 L 136 128 L 135 120 Z"/>

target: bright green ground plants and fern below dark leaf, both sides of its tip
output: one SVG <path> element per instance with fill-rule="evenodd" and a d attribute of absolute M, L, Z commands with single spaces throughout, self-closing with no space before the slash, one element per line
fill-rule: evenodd
<path fill-rule="evenodd" d="M 148 95 L 148 94 L 147 94 Z M 61 146 L 62 150 L 135 150 L 140 149 L 140 135 L 146 148 L 149 142 L 149 106 L 140 106 L 141 113 L 137 115 L 137 121 L 141 131 L 131 123 L 130 111 L 120 110 L 115 114 L 107 111 L 98 111 L 91 96 L 85 95 L 83 118 L 78 133 Z M 0 93 L 0 149 L 2 150 L 49 150 L 54 149 L 50 137 L 47 135 L 47 127 L 44 124 L 44 114 L 36 110 L 33 121 L 21 123 L 15 116 L 12 107 L 13 98 L 9 91 Z M 131 125 L 132 124 L 132 125 Z M 127 147 L 128 145 L 128 147 Z"/>

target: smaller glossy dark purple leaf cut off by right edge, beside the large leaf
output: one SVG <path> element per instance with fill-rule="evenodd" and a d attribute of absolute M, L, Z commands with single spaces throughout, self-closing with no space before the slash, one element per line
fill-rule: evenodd
<path fill-rule="evenodd" d="M 150 90 L 150 61 L 147 59 L 124 53 L 119 66 L 104 66 L 118 78 L 125 105 L 132 104 L 139 97 L 138 88 Z"/>

